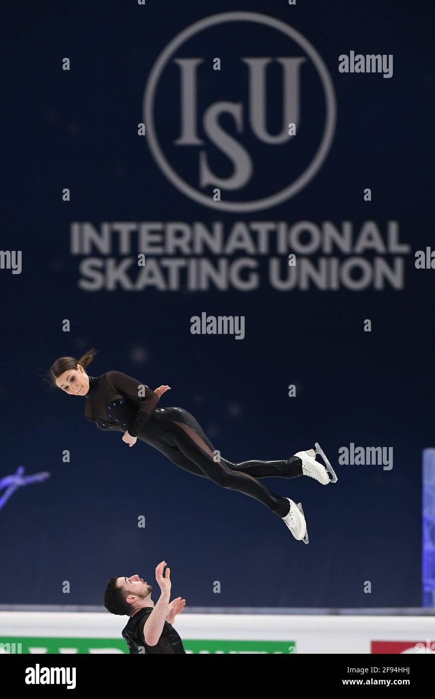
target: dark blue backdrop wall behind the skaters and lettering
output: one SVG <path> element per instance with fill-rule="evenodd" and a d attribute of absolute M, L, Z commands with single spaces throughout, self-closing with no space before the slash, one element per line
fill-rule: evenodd
<path fill-rule="evenodd" d="M 165 45 L 201 17 L 236 9 L 300 31 L 337 93 L 337 130 L 316 178 L 281 206 L 242 215 L 179 193 L 136 134 L 147 76 Z M 20 464 L 51 473 L 0 510 L 1 603 L 100 604 L 109 575 L 138 572 L 152 582 L 165 559 L 173 593 L 193 606 L 420 605 L 421 453 L 434 446 L 435 272 L 417 271 L 411 254 L 400 291 L 284 293 L 263 283 L 246 293 L 90 292 L 78 287 L 69 232 L 75 221 L 219 219 L 229 227 L 397 219 L 413 251 L 431 245 L 432 3 L 222 0 L 216 9 L 208 0 L 149 0 L 145 8 L 76 1 L 3 3 L 1 12 L 1 245 L 22 250 L 23 268 L 0 273 L 0 476 Z M 192 55 L 206 55 L 205 43 L 195 48 Z M 225 50 L 212 45 L 207 57 Z M 258 30 L 258 45 L 244 55 L 283 50 L 261 45 Z M 393 77 L 341 75 L 338 56 L 350 50 L 394 55 Z M 229 77 L 228 86 L 237 92 Z M 159 108 L 170 128 L 170 104 Z M 254 198 L 263 194 L 256 186 Z M 71 188 L 70 203 L 61 201 L 63 187 Z M 191 335 L 189 319 L 202 311 L 244 315 L 246 338 Z M 366 318 L 371 333 L 362 331 Z M 63 319 L 71 332 L 62 332 Z M 193 412 L 233 461 L 290 456 L 318 440 L 335 463 L 351 442 L 392 446 L 394 468 L 337 467 L 339 482 L 327 488 L 311 479 L 266 481 L 304 503 L 305 547 L 251 498 L 179 470 L 142 442 L 126 447 L 119 433 L 87 424 L 81 398 L 47 391 L 40 374 L 87 347 L 100 349 L 92 375 L 117 369 L 153 389 L 168 383 L 161 407 Z M 288 384 L 297 384 L 296 398 L 288 398 Z M 62 463 L 64 449 L 71 463 Z M 141 514 L 145 530 L 137 527 Z"/>

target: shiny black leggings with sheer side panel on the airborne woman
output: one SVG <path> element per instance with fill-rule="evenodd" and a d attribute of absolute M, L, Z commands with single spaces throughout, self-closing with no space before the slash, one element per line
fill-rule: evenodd
<path fill-rule="evenodd" d="M 193 417 L 190 416 L 189 417 Z M 192 420 L 189 420 L 192 422 Z M 214 455 L 212 442 L 195 421 L 196 429 L 178 421 L 171 421 L 174 447 L 158 446 L 165 456 L 180 468 L 195 475 L 209 478 L 222 488 L 237 490 L 269 507 L 279 517 L 285 517 L 290 503 L 269 490 L 258 478 L 278 476 L 292 478 L 302 475 L 302 462 L 297 456 L 282 461 L 241 461 L 232 463 L 219 454 Z"/>

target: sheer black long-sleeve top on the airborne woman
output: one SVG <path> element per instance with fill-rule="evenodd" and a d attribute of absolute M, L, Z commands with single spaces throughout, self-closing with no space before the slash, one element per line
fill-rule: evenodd
<path fill-rule="evenodd" d="M 102 430 L 137 437 L 160 400 L 146 384 L 121 371 L 89 376 L 84 415 Z"/>

